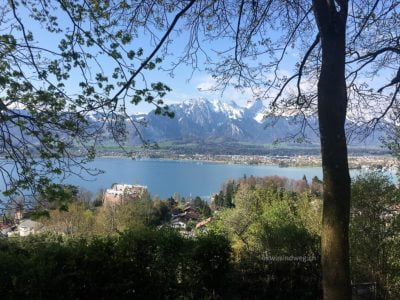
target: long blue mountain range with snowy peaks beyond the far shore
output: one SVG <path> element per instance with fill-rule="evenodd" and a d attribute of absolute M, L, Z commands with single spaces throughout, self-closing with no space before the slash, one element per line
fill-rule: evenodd
<path fill-rule="evenodd" d="M 279 141 L 305 142 L 319 145 L 318 119 L 311 116 L 308 126 L 302 129 L 300 116 L 275 116 L 265 118 L 267 107 L 261 100 L 249 101 L 239 106 L 219 100 L 206 98 L 185 100 L 169 106 L 174 118 L 154 114 L 135 115 L 136 120 L 145 121 L 139 129 L 146 140 L 160 141 L 236 141 L 256 144 L 274 144 Z M 349 124 L 354 123 L 349 121 Z M 303 135 L 299 133 L 303 130 Z M 352 142 L 356 146 L 380 145 L 383 133 L 376 134 L 365 141 Z"/>

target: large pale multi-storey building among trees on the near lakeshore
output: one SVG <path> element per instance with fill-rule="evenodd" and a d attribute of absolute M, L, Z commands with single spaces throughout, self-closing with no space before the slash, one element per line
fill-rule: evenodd
<path fill-rule="evenodd" d="M 103 195 L 104 204 L 122 204 L 129 200 L 139 200 L 147 191 L 147 186 L 131 184 L 114 184 Z"/>

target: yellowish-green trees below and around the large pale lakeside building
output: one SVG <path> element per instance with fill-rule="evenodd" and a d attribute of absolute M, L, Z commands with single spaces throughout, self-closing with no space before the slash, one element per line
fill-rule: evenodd
<path fill-rule="evenodd" d="M 173 210 L 181 212 L 185 202 L 175 202 L 172 198 L 163 201 L 158 197 L 153 199 L 148 192 L 139 198 L 124 195 L 119 204 L 105 203 L 98 193 L 92 202 L 90 194 L 74 186 L 58 186 L 60 188 L 57 201 L 42 200 L 46 210 L 37 206 L 30 213 L 30 218 L 42 222 L 47 230 L 67 235 L 96 235 L 122 232 L 130 227 L 156 227 L 169 224 Z M 72 193 L 73 191 L 73 193 Z M 59 200 L 58 200 L 59 199 Z M 172 200 L 172 202 L 171 202 Z M 192 203 L 199 212 L 200 218 L 211 216 L 207 202 L 196 197 Z M 194 228 L 197 222 L 192 221 L 189 228 Z"/>

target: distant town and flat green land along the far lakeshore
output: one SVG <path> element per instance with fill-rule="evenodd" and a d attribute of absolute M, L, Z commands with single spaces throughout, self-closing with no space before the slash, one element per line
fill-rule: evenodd
<path fill-rule="evenodd" d="M 198 162 L 277 165 L 280 167 L 320 167 L 319 146 L 314 144 L 254 144 L 210 141 L 164 141 L 141 146 L 104 146 L 96 149 L 97 157 L 130 157 L 132 159 L 187 160 Z M 396 172 L 399 160 L 382 147 L 350 147 L 351 169 Z"/>

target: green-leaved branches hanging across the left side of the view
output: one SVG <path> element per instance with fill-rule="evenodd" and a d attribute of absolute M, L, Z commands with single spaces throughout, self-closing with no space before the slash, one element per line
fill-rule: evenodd
<path fill-rule="evenodd" d="M 0 173 L 5 196 L 48 194 L 53 181 L 100 170 L 85 163 L 107 133 L 122 146 L 127 103 L 173 117 L 161 82 L 133 80 L 161 63 L 137 47 L 109 1 L 10 0 L 0 7 Z M 111 13 L 113 11 L 113 13 Z M 124 91 L 124 93 L 122 92 Z M 99 122 L 90 121 L 96 114 Z M 146 143 L 140 132 L 135 133 Z"/>

